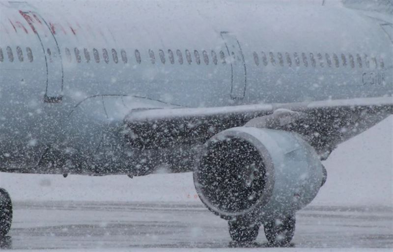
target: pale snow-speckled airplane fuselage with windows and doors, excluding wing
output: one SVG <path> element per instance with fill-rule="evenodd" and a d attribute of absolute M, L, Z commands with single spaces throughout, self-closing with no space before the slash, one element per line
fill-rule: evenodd
<path fill-rule="evenodd" d="M 393 93 L 389 24 L 354 10 L 128 2 L 90 13 L 77 3 L 0 4 L 1 171 L 63 173 L 39 167 L 56 166 L 52 156 L 64 150 L 89 159 L 107 151 L 107 138 L 121 145 L 113 129 L 133 109 Z M 91 173 L 103 169 L 86 162 Z"/>

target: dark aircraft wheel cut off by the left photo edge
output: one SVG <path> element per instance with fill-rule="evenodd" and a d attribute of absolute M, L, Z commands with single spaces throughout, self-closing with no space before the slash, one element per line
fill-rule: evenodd
<path fill-rule="evenodd" d="M 5 236 L 11 228 L 12 202 L 5 189 L 0 188 L 0 237 Z"/>

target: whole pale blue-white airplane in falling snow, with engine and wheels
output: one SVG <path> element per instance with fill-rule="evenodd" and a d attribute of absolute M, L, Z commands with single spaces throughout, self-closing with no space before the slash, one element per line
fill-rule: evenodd
<path fill-rule="evenodd" d="M 1 1 L 0 172 L 193 172 L 234 242 L 287 246 L 321 161 L 393 113 L 392 29 L 319 1 Z"/>

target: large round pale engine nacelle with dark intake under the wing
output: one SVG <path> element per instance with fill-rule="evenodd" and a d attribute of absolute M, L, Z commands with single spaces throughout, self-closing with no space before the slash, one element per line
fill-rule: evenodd
<path fill-rule="evenodd" d="M 200 199 L 224 219 L 291 216 L 324 180 L 318 155 L 299 135 L 246 126 L 209 139 L 194 171 Z"/>

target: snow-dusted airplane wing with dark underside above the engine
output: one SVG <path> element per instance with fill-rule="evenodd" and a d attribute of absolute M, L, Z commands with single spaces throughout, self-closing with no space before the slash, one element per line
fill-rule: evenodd
<path fill-rule="evenodd" d="M 337 144 L 392 113 L 393 98 L 378 97 L 137 110 L 126 116 L 125 126 L 130 144 L 139 149 L 173 149 L 203 144 L 214 134 L 235 126 L 282 129 L 302 134 L 322 158 L 327 158 Z"/>

